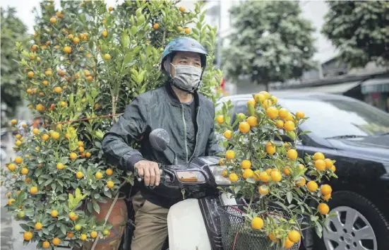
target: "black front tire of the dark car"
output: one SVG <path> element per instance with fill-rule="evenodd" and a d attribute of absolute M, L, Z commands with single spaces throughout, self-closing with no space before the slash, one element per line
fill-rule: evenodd
<path fill-rule="evenodd" d="M 335 224 L 330 222 L 331 228 L 329 228 L 329 232 L 324 232 L 325 229 L 323 229 L 323 237 L 321 239 L 313 232 L 313 234 L 315 234 L 316 242 L 315 249 L 330 250 L 330 247 L 325 246 L 325 242 L 328 242 L 327 244 L 333 244 L 333 246 L 342 244 L 344 247 L 342 246 L 340 249 L 363 249 L 357 242 L 364 237 L 361 236 L 362 232 L 358 233 L 358 231 L 355 230 L 355 227 L 360 227 L 359 230 L 364 228 L 368 234 L 369 227 L 371 227 L 372 230 L 370 230 L 370 232 L 373 232 L 373 234 L 370 235 L 375 236 L 372 238 L 375 238 L 376 242 L 374 242 L 373 239 L 361 240 L 362 245 L 365 247 L 367 246 L 366 249 L 381 250 L 388 247 L 388 218 L 385 218 L 385 215 L 383 215 L 377 206 L 369 201 L 369 199 L 351 191 L 337 191 L 333 194 L 333 198 L 328 202 L 328 206 L 330 206 L 330 213 L 335 212 L 340 215 L 328 219 L 329 221 L 335 220 L 335 222 L 340 222 L 341 224 L 338 224 L 340 230 L 337 232 L 338 230 L 335 230 L 335 227 L 331 227 Z M 349 214 L 349 218 L 354 217 L 354 215 L 354 218 L 357 218 L 354 220 L 354 223 L 349 224 L 352 225 L 353 228 L 351 231 L 349 229 L 350 227 L 347 227 L 347 222 L 350 222 L 350 220 L 347 220 L 345 217 L 347 214 Z M 340 218 L 340 220 L 337 220 L 337 218 Z M 370 226 L 365 222 L 368 222 Z M 334 233 L 330 234 L 330 232 Z M 325 235 L 326 233 L 327 235 Z M 337 241 L 332 241 L 332 239 L 337 239 L 337 237 L 339 237 Z M 333 242 L 337 243 L 334 244 Z M 357 244 L 357 246 L 355 244 Z"/>

